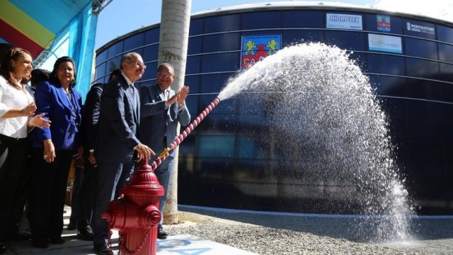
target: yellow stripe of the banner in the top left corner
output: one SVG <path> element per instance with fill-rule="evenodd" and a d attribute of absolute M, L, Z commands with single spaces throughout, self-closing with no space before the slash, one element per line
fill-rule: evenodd
<path fill-rule="evenodd" d="M 42 26 L 38 21 L 21 11 L 9 1 L 4 1 L 2 4 L 1 19 L 8 23 L 13 28 L 36 42 L 41 47 L 47 45 L 55 38 L 55 34 Z"/>

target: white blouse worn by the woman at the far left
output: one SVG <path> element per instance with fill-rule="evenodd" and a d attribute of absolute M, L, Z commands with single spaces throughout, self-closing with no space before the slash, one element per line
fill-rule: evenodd
<path fill-rule="evenodd" d="M 16 89 L 0 75 L 0 133 L 14 138 L 27 137 L 28 117 L 3 118 L 11 109 L 23 109 L 32 103 L 27 89 Z"/>

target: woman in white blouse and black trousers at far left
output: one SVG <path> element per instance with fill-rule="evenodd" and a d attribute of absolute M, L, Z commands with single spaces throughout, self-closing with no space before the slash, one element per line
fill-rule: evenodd
<path fill-rule="evenodd" d="M 0 66 L 0 153 L 6 157 L 0 162 L 0 254 L 16 229 L 11 226 L 11 212 L 16 203 L 18 183 L 27 171 L 28 130 L 33 127 L 49 128 L 50 121 L 35 115 L 35 103 L 30 89 L 22 84 L 32 71 L 30 52 L 13 47 L 4 55 Z"/>

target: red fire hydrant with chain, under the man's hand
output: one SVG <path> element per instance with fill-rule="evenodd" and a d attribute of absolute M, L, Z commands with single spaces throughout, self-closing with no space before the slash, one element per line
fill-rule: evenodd
<path fill-rule="evenodd" d="M 120 254 L 155 255 L 157 225 L 162 217 L 159 196 L 164 196 L 164 187 L 146 160 L 134 171 L 122 194 L 123 198 L 110 202 L 108 212 L 102 215 L 110 229 L 119 230 Z"/>

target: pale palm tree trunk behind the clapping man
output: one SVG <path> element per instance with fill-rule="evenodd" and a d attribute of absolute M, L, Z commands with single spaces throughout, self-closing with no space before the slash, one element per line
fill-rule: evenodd
<path fill-rule="evenodd" d="M 189 40 L 190 9 L 192 0 L 162 0 L 161 34 L 159 38 L 159 64 L 170 63 L 176 79 L 171 89 L 179 91 L 184 85 L 185 62 Z M 179 132 L 178 125 L 178 132 Z M 173 159 L 173 174 L 164 207 L 164 223 L 178 222 L 178 151 Z"/>

